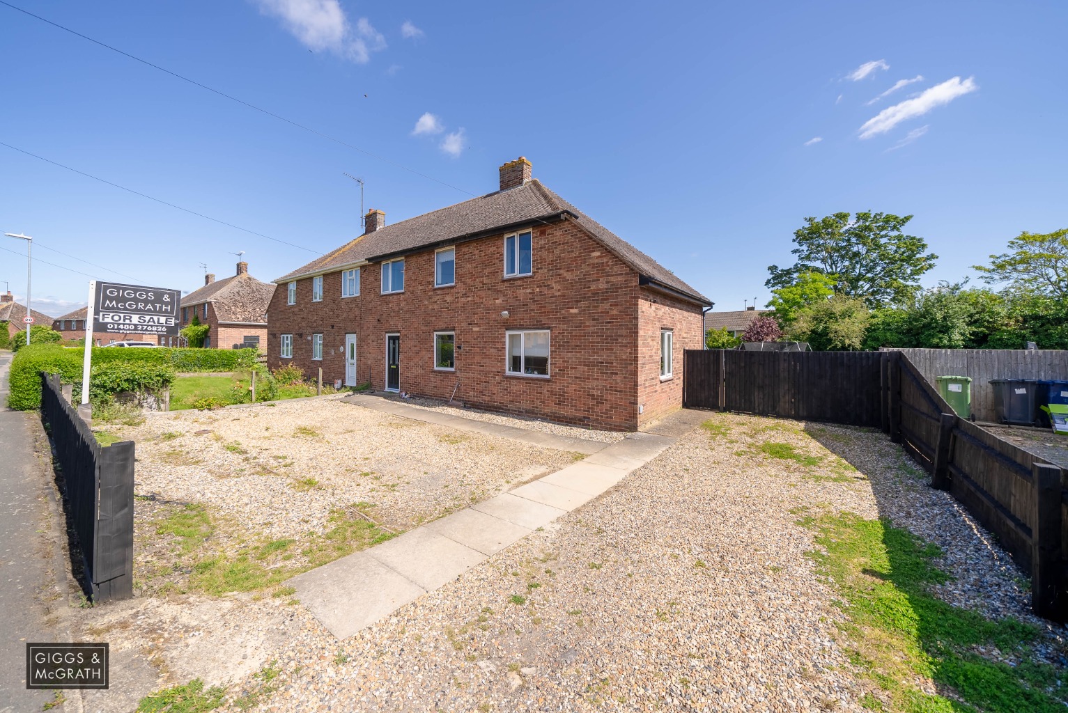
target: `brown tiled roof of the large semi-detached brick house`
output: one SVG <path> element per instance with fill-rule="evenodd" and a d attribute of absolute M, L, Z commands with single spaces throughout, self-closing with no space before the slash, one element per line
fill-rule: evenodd
<path fill-rule="evenodd" d="M 701 302 L 709 303 L 708 298 L 676 278 L 671 270 L 617 237 L 537 179 L 509 190 L 489 193 L 387 225 L 356 238 L 274 282 L 281 283 L 313 273 L 329 272 L 345 265 L 363 260 L 374 262 L 429 248 L 439 242 L 488 234 L 513 225 L 555 220 L 565 212 L 570 213 L 595 240 L 639 273 Z"/>

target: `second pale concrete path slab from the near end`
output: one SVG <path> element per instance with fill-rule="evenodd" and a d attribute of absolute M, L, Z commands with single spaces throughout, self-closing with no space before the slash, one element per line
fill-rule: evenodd
<path fill-rule="evenodd" d="M 443 535 L 417 527 L 366 553 L 427 591 L 452 582 L 486 555 Z"/>

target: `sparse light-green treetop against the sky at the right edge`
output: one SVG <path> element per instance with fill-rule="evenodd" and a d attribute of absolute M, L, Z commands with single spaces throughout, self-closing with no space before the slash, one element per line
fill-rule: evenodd
<path fill-rule="evenodd" d="M 984 281 L 1068 299 L 1068 227 L 1045 235 L 1024 231 L 1008 248 L 1011 252 L 991 255 L 989 266 L 974 266 Z"/>

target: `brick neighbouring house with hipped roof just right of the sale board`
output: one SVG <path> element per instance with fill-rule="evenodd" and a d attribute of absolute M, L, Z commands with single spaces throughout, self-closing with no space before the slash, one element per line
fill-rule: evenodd
<path fill-rule="evenodd" d="M 267 305 L 273 294 L 274 285 L 253 278 L 249 264 L 241 260 L 233 278 L 217 281 L 214 274 L 206 274 L 203 287 L 182 298 L 182 327 L 188 327 L 195 315 L 200 323 L 211 326 L 205 347 L 263 347 L 267 342 Z"/>

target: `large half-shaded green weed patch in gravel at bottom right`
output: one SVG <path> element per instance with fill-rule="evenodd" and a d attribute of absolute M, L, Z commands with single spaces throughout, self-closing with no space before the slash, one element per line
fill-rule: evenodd
<path fill-rule="evenodd" d="M 823 552 L 808 556 L 837 587 L 849 620 L 850 661 L 882 692 L 870 710 L 902 713 L 1063 712 L 1064 671 L 1035 656 L 1039 631 L 1014 618 L 989 620 L 931 593 L 948 575 L 932 567 L 941 552 L 886 521 L 851 513 L 804 518 Z M 987 657 L 986 652 L 998 653 Z M 915 684 L 929 679 L 946 695 Z"/>

